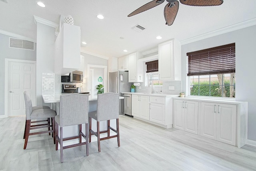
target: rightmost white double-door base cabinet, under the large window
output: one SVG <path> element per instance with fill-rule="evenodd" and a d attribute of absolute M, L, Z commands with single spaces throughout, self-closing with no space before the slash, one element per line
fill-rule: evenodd
<path fill-rule="evenodd" d="M 236 145 L 236 105 L 201 104 L 201 136 Z"/>

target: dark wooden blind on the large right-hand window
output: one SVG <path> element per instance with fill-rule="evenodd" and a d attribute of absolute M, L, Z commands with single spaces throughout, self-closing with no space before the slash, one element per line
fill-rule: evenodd
<path fill-rule="evenodd" d="M 188 76 L 226 74 L 236 71 L 235 43 L 188 52 Z"/>

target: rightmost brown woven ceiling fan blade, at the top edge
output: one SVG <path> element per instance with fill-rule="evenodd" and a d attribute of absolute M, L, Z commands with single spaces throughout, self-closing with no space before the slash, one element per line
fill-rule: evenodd
<path fill-rule="evenodd" d="M 180 0 L 180 3 L 189 6 L 218 6 L 223 0 Z"/>

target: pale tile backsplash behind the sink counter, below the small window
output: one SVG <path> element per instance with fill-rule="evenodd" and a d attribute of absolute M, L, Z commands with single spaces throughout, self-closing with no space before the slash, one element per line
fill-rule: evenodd
<path fill-rule="evenodd" d="M 169 86 L 174 86 L 174 90 L 169 90 Z M 141 89 L 139 88 L 141 87 Z M 151 91 L 154 91 L 154 93 L 166 93 L 171 95 L 179 95 L 181 92 L 181 81 L 169 81 L 169 82 L 163 82 L 162 87 L 151 87 L 151 86 L 144 86 L 144 83 L 141 83 L 140 86 L 136 86 L 135 92 L 137 93 L 151 93 Z"/>

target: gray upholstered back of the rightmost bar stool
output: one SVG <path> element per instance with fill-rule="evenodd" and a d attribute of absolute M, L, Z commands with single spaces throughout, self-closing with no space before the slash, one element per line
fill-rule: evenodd
<path fill-rule="evenodd" d="M 98 94 L 97 121 L 117 119 L 119 114 L 119 93 Z"/>

